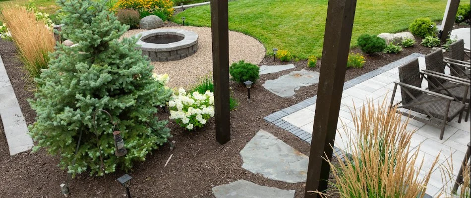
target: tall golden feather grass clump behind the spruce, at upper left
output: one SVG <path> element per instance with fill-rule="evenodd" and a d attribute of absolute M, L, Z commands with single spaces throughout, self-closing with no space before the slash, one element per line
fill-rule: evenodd
<path fill-rule="evenodd" d="M 3 6 L 0 19 L 7 24 L 26 71 L 33 78 L 39 77 L 41 69 L 48 66 L 48 53 L 56 45 L 53 29 L 36 20 L 34 13 L 24 6 Z"/>

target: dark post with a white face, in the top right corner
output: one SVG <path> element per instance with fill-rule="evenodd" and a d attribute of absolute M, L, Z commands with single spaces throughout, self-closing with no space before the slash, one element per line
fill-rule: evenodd
<path fill-rule="evenodd" d="M 443 16 L 442 26 L 440 28 L 441 30 L 438 33 L 438 37 L 440 37 L 442 42 L 446 42 L 448 35 L 450 35 L 451 30 L 453 29 L 459 5 L 460 0 L 448 0 L 447 7 L 445 8 L 445 15 Z"/>

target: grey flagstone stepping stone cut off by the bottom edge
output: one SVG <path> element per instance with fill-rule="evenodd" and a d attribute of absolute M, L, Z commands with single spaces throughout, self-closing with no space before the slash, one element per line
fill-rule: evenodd
<path fill-rule="evenodd" d="M 294 198 L 294 191 L 254 184 L 245 180 L 214 187 L 216 198 Z"/>

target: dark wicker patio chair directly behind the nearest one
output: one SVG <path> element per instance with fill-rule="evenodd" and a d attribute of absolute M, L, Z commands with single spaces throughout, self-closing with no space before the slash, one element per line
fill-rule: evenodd
<path fill-rule="evenodd" d="M 445 66 L 441 63 L 441 57 L 442 52 L 440 50 L 425 56 L 425 67 L 427 69 L 421 72 L 422 78 L 427 80 L 428 90 L 453 97 L 455 101 L 467 104 L 467 113 L 465 116 L 465 121 L 467 122 L 471 109 L 471 80 L 446 75 Z"/>

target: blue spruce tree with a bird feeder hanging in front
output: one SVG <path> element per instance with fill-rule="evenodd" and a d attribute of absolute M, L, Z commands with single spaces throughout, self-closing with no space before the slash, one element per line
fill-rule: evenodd
<path fill-rule="evenodd" d="M 128 170 L 167 142 L 166 121 L 155 116 L 171 90 L 152 77 L 152 66 L 136 50 L 136 38 L 119 37 L 129 28 L 107 10 L 104 2 L 59 0 L 66 17 L 64 37 L 78 44 L 59 45 L 50 54 L 49 69 L 39 79 L 31 106 L 37 112 L 30 133 L 37 145 L 60 158 L 73 175 Z M 96 130 L 93 115 L 97 110 Z M 113 131 L 121 131 L 127 154 L 115 155 Z M 81 135 L 80 147 L 75 148 Z M 103 167 L 102 167 L 103 166 Z"/>

